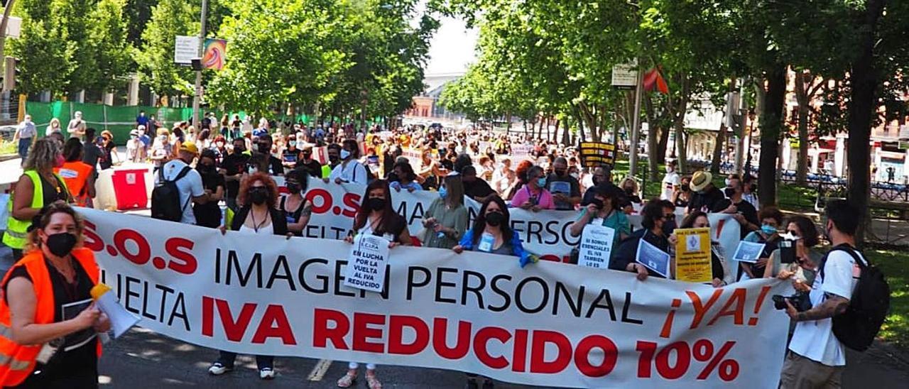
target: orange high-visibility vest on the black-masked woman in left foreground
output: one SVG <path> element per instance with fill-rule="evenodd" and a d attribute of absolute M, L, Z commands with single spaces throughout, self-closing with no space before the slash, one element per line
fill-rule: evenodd
<path fill-rule="evenodd" d="M 91 278 L 92 284 L 98 283 L 101 273 L 95 264 L 95 254 L 87 248 L 73 249 L 73 257 L 85 273 Z M 25 254 L 3 279 L 5 285 L 9 281 L 9 274 L 17 266 L 25 266 L 28 275 L 32 277 L 35 285 L 35 324 L 54 323 L 54 286 L 45 264 L 45 255 L 41 250 L 33 250 Z M 12 324 L 10 323 L 9 306 L 6 297 L 0 298 L 0 386 L 15 386 L 22 384 L 25 378 L 35 370 L 38 353 L 44 344 L 17 344 L 13 341 Z M 101 342 L 97 342 L 97 354 L 101 356 Z"/>

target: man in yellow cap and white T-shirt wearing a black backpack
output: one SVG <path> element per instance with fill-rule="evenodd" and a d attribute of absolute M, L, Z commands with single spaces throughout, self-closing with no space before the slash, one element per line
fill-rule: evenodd
<path fill-rule="evenodd" d="M 158 170 L 155 190 L 152 191 L 152 217 L 183 224 L 195 224 L 193 205 L 205 204 L 209 194 L 202 185 L 202 175 L 191 168 L 199 149 L 186 141 L 180 145 L 177 158 Z"/>

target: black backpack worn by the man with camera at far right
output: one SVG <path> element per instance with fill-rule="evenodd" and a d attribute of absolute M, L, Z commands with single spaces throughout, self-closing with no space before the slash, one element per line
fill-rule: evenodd
<path fill-rule="evenodd" d="M 887 284 L 881 270 L 870 261 L 864 264 L 852 246 L 839 244 L 830 253 L 834 251 L 844 251 L 852 255 L 855 263 L 862 268 L 862 274 L 859 275 L 858 283 L 855 284 L 855 290 L 849 299 L 849 306 L 843 314 L 833 317 L 834 335 L 846 347 L 865 351 L 874 342 L 874 337 L 881 330 L 881 324 L 884 324 L 884 318 L 890 311 L 890 285 Z M 826 258 L 825 256 L 821 262 L 822 279 Z"/>

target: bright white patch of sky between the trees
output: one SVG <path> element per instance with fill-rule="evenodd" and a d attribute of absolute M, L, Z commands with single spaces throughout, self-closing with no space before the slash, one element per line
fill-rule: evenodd
<path fill-rule="evenodd" d="M 477 29 L 468 30 L 464 21 L 442 18 L 429 47 L 426 75 L 464 73 L 474 61 Z"/>

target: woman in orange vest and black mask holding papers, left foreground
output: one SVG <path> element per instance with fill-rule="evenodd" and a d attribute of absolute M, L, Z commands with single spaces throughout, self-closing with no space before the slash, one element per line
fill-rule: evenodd
<path fill-rule="evenodd" d="M 29 228 L 26 254 L 4 277 L 0 298 L 0 385 L 98 385 L 97 333 L 110 321 L 92 303 L 98 282 L 83 224 L 72 207 L 45 206 Z"/>

